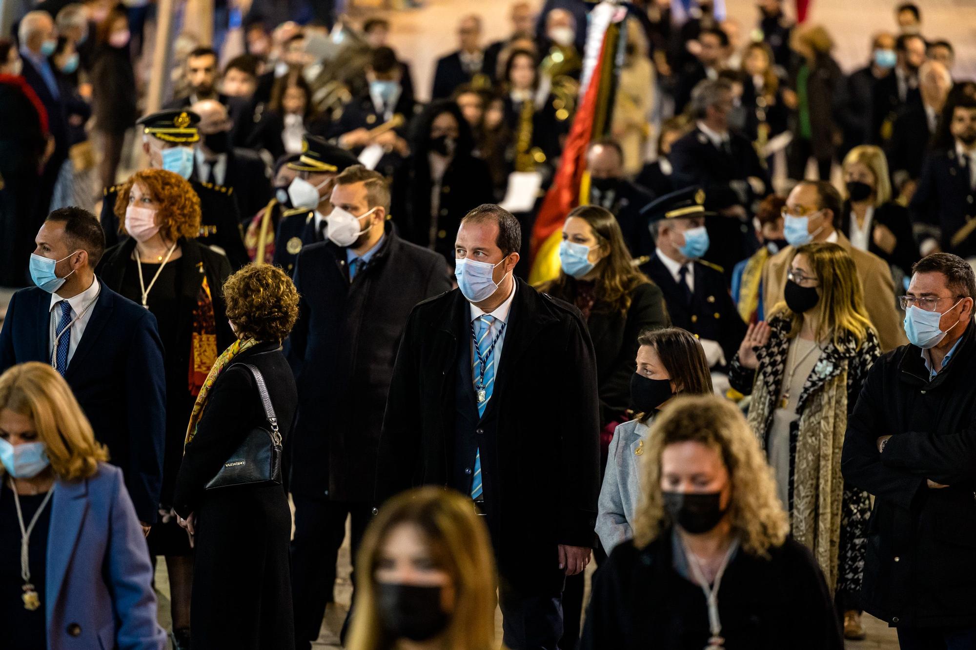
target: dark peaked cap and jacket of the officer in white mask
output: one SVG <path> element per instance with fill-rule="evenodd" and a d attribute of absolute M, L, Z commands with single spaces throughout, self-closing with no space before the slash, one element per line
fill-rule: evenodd
<path fill-rule="evenodd" d="M 289 169 L 299 172 L 338 175 L 346 167 L 358 162 L 345 149 L 311 134 L 305 134 L 305 142 L 303 142 L 302 148 L 304 151 L 299 159 L 288 163 Z M 291 275 L 295 269 L 295 260 L 303 247 L 323 240 L 322 232 L 315 228 L 314 208 L 286 210 L 281 214 L 281 221 L 278 222 L 278 229 L 274 234 L 273 264 L 281 266 L 286 273 Z"/>

